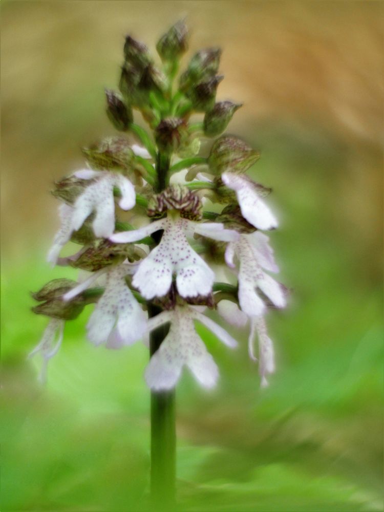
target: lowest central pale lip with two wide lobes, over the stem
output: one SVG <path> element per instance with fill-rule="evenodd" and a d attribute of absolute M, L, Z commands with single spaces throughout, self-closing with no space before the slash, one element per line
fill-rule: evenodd
<path fill-rule="evenodd" d="M 184 366 L 189 368 L 203 387 L 212 388 L 216 385 L 219 370 L 195 330 L 195 320 L 205 325 L 228 347 L 237 346 L 236 340 L 222 327 L 189 306 L 176 306 L 172 311 L 163 311 L 148 321 L 148 330 L 170 322 L 167 336 L 145 371 L 145 380 L 151 389 L 159 391 L 174 388 Z"/>

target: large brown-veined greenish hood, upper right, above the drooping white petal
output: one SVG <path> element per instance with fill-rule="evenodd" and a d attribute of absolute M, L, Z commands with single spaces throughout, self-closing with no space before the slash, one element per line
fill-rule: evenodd
<path fill-rule="evenodd" d="M 258 151 L 231 135 L 217 139 L 208 157 L 209 168 L 214 174 L 225 171 L 245 173 L 260 158 Z"/>

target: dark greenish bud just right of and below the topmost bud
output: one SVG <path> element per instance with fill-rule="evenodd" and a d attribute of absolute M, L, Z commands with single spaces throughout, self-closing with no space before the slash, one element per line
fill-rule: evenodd
<path fill-rule="evenodd" d="M 196 83 L 215 76 L 219 70 L 220 57 L 220 48 L 205 48 L 197 52 L 180 77 L 180 90 L 186 92 Z"/>

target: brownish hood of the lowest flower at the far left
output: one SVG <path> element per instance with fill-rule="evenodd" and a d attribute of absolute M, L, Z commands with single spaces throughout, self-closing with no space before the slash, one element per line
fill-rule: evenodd
<path fill-rule="evenodd" d="M 81 313 L 87 302 L 81 295 L 75 297 L 72 301 L 65 302 L 62 300 L 62 295 L 77 285 L 78 283 L 71 279 L 54 279 L 50 281 L 41 290 L 32 293 L 36 301 L 44 301 L 42 304 L 34 306 L 32 311 L 36 314 L 62 320 L 73 320 Z"/>

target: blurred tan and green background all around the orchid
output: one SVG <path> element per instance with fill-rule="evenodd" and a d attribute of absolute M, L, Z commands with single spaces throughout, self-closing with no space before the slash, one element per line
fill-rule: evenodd
<path fill-rule="evenodd" d="M 292 288 L 290 308 L 268 317 L 278 371 L 266 390 L 246 332 L 231 330 L 230 351 L 198 326 L 221 378 L 206 393 L 185 374 L 177 389 L 179 509 L 382 510 L 382 6 L 96 5 L 2 11 L 2 511 L 147 509 L 147 350 L 92 347 L 89 306 L 41 388 L 26 356 L 47 321 L 28 292 L 75 276 L 44 263 L 57 224 L 48 190 L 82 165 L 79 145 L 112 133 L 102 89 L 123 34 L 153 45 L 176 10 L 190 16 L 192 50 L 224 47 L 219 97 L 246 102 L 230 133 L 262 150 L 251 174 L 273 187 L 271 241 Z"/>

